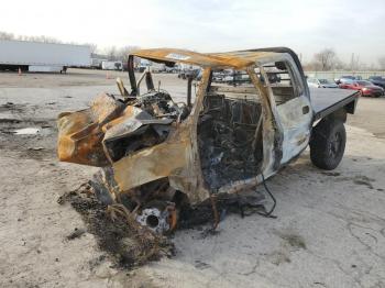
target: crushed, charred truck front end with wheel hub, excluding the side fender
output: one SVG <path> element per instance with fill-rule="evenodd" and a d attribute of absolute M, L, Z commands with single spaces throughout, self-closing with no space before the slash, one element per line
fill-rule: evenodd
<path fill-rule="evenodd" d="M 168 202 L 175 190 L 167 179 L 121 192 L 111 165 L 164 142 L 188 113 L 187 106 L 175 103 L 166 91 L 125 99 L 101 93 L 89 109 L 59 115 L 58 156 L 101 167 L 89 181 L 97 198 L 123 213 L 134 211 L 139 223 L 162 233 L 176 225 L 175 204 Z"/>

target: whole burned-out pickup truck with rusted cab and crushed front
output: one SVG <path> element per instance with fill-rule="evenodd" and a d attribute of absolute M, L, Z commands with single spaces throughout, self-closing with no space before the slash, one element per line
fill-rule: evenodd
<path fill-rule="evenodd" d="M 177 101 L 154 85 L 150 70 L 136 80 L 134 57 L 200 66 L 202 77 L 184 81 L 184 101 Z M 310 91 L 289 48 L 141 49 L 129 56 L 128 68 L 130 88 L 119 81 L 120 96 L 101 93 L 90 108 L 58 117 L 58 157 L 101 167 L 91 180 L 100 201 L 118 203 L 155 232 L 177 226 L 183 203 L 211 201 L 215 208 L 218 195 L 254 189 L 308 145 L 321 169 L 342 159 L 344 122 L 359 93 Z M 223 69 L 249 80 L 211 81 Z"/>

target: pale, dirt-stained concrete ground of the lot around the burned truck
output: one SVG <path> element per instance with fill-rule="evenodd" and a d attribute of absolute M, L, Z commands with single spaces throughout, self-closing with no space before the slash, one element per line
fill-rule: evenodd
<path fill-rule="evenodd" d="M 362 98 L 333 171 L 308 153 L 267 181 L 275 215 L 227 215 L 218 233 L 176 231 L 176 255 L 128 272 L 111 263 L 57 198 L 96 169 L 58 163 L 55 119 L 127 74 L 0 74 L 1 287 L 385 287 L 385 98 Z M 155 75 L 170 95 L 185 81 Z M 41 128 L 36 135 L 14 135 Z M 262 188 L 258 188 L 262 190 Z"/>

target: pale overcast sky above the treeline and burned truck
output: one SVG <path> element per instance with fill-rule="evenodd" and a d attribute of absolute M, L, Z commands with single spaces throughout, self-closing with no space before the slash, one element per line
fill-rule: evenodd
<path fill-rule="evenodd" d="M 349 62 L 385 56 L 384 0 L 2 1 L 0 31 L 98 47 L 199 52 L 288 46 L 309 60 L 331 47 Z"/>

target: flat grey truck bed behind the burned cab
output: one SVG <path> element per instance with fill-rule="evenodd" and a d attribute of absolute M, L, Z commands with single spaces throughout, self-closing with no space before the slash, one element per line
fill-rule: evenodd
<path fill-rule="evenodd" d="M 310 89 L 310 101 L 315 112 L 314 121 L 346 107 L 348 113 L 354 113 L 360 92 L 348 89 L 314 88 Z"/>

